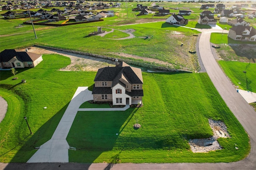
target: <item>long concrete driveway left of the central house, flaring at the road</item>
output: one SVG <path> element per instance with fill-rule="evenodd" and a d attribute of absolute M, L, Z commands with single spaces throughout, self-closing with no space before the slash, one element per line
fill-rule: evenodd
<path fill-rule="evenodd" d="M 88 100 L 93 100 L 92 92 L 88 90 L 88 87 L 78 87 L 52 138 L 41 145 L 27 163 L 68 162 L 69 145 L 66 137 L 79 107 Z"/>

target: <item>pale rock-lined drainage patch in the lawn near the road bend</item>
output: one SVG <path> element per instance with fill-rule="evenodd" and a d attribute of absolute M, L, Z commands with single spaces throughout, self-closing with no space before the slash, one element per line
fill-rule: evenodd
<path fill-rule="evenodd" d="M 212 128 L 213 136 L 207 139 L 190 139 L 189 145 L 192 152 L 209 152 L 212 150 L 220 150 L 222 147 L 218 143 L 217 139 L 220 137 L 230 137 L 227 132 L 227 127 L 222 121 L 215 121 L 208 119 L 209 125 Z"/>

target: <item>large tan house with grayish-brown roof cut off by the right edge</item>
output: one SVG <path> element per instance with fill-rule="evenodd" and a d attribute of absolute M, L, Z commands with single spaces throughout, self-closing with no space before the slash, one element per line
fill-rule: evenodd
<path fill-rule="evenodd" d="M 228 37 L 237 41 L 256 41 L 256 29 L 251 26 L 237 25 L 229 29 Z"/>

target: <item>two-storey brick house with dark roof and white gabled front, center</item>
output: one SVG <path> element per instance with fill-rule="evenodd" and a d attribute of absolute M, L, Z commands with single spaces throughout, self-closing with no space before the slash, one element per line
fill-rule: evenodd
<path fill-rule="evenodd" d="M 142 104 L 143 79 L 140 68 L 116 60 L 115 67 L 100 68 L 94 78 L 94 102 L 113 105 Z"/>

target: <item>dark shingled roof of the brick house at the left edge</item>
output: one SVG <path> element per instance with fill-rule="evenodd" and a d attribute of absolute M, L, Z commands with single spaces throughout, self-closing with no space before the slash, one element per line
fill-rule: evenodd
<path fill-rule="evenodd" d="M 8 62 L 13 57 L 16 57 L 21 62 L 35 61 L 42 55 L 36 53 L 30 53 L 26 51 L 20 51 L 15 49 L 5 49 L 0 53 L 0 62 Z"/>

